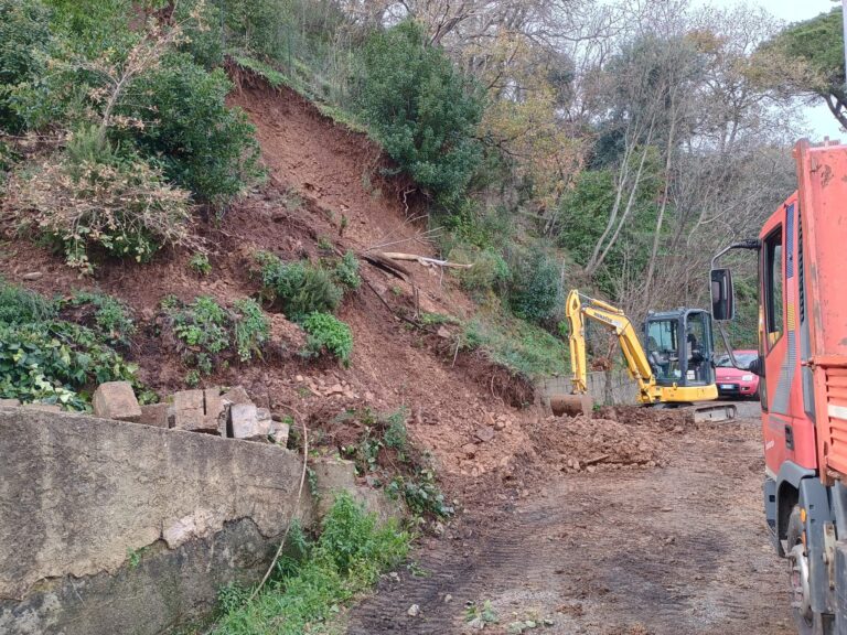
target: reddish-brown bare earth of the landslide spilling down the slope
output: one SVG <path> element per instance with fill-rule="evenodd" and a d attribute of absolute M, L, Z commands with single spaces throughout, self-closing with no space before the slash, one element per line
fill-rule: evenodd
<path fill-rule="evenodd" d="M 243 72 L 233 77 L 229 105 L 242 107 L 255 125 L 268 180 L 221 220 L 199 224 L 211 275 L 191 271 L 192 254 L 171 252 L 149 265 L 107 261 L 94 279 L 79 279 L 61 258 L 14 235 L 0 249 L 0 276 L 9 281 L 49 295 L 96 288 L 125 300 L 141 326 L 129 357 L 139 364 L 141 379 L 160 392 L 184 388 L 187 370 L 162 335 L 161 300 L 206 294 L 228 303 L 255 295 L 256 250 L 285 260 L 315 259 L 329 243 L 337 254 L 386 249 L 436 256 L 426 239 L 426 201 L 410 182 L 383 176 L 390 165 L 377 146 L 292 90 Z M 366 283 L 339 313 L 353 330 L 350 368 L 300 358 L 302 333 L 276 314 L 272 331 L 282 346 L 274 355 L 204 384 L 242 384 L 260 405 L 321 429 L 319 441 L 333 438 L 336 416 L 347 409 L 406 407 L 411 440 L 431 453 L 449 492 L 461 496 L 504 482 L 521 486 L 512 480 L 516 467 L 535 460 L 527 430 L 537 417 L 513 406 L 532 401 L 532 387 L 480 353 L 455 353 L 455 325 L 417 329 L 403 320 L 399 315 L 417 310 L 460 320 L 473 312 L 449 275 L 417 262 L 404 268 L 405 280 L 362 261 Z"/>

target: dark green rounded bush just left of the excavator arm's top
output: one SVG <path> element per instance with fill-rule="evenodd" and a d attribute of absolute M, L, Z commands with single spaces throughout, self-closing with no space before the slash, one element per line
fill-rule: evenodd
<path fill-rule="evenodd" d="M 539 248 L 513 255 L 508 303 L 515 315 L 549 324 L 562 310 L 559 265 Z"/>

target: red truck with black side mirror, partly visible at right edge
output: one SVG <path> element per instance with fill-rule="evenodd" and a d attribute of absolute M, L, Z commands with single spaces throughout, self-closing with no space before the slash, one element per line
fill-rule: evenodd
<path fill-rule="evenodd" d="M 765 517 L 801 634 L 847 635 L 847 146 L 800 141 L 794 157 L 797 191 L 712 259 L 712 316 L 735 314 L 718 258 L 754 250 Z"/>

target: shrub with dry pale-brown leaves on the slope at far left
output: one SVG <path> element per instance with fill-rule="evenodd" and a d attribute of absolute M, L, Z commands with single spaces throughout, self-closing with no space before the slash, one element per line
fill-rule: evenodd
<path fill-rule="evenodd" d="M 81 133 L 90 139 L 96 130 Z M 92 162 L 86 155 L 103 162 Z M 77 161 L 76 159 L 79 159 Z M 146 262 L 163 246 L 193 246 L 186 192 L 140 158 L 77 142 L 11 179 L 3 216 L 64 250 L 68 266 L 90 272 L 90 252 Z"/>

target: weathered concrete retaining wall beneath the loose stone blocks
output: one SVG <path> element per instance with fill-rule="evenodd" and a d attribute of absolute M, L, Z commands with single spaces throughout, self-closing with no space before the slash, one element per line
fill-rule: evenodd
<path fill-rule="evenodd" d="M 301 461 L 270 444 L 0 409 L 0 633 L 156 634 L 205 611 L 267 564 Z M 308 491 L 302 507 L 308 524 Z"/>

